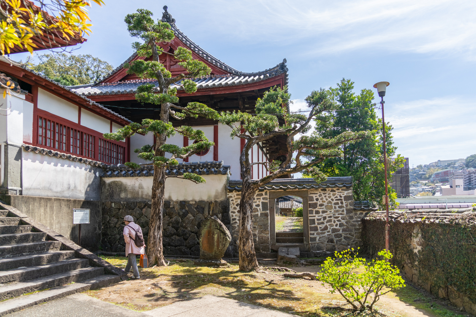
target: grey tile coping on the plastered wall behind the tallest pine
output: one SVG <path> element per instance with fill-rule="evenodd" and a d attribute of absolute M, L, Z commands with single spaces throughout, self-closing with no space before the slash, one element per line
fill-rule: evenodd
<path fill-rule="evenodd" d="M 223 165 L 223 161 L 205 161 L 205 162 L 184 162 L 178 163 L 177 166 L 170 166 L 166 173 L 167 175 L 183 175 L 184 173 L 194 173 L 198 175 L 227 175 L 230 166 Z M 101 177 L 131 177 L 131 176 L 154 176 L 154 166 L 146 165 L 139 169 L 132 169 L 126 165 L 108 165 L 105 173 Z"/>

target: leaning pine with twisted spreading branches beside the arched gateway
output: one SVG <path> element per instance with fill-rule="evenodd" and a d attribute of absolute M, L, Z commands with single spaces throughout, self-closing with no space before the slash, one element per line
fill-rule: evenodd
<path fill-rule="evenodd" d="M 220 113 L 218 121 L 232 128 L 230 136 L 245 139 L 240 154 L 240 174 L 243 180 L 239 202 L 239 269 L 250 271 L 258 267 L 253 243 L 253 200 L 260 186 L 284 175 L 307 170 L 317 182 L 326 179 L 325 173 L 312 166 L 323 162 L 329 157 L 339 157 L 342 150 L 339 146 L 349 144 L 367 136 L 367 131 L 343 131 L 332 137 L 323 137 L 317 131 L 306 135 L 311 129 L 309 123 L 314 119 L 318 122 L 325 119 L 325 113 L 337 109 L 332 92 L 326 89 L 313 91 L 306 98 L 309 115 L 289 113 L 286 105 L 290 95 L 287 87 L 275 88 L 266 92 L 258 99 L 255 114 L 246 112 Z M 284 119 L 284 120 L 278 120 Z M 250 150 L 258 143 L 266 142 L 278 135 L 287 138 L 287 158 L 284 161 L 250 162 Z M 296 158 L 293 159 L 293 155 Z M 263 164 L 270 174 L 260 179 L 253 179 L 252 166 Z M 292 166 L 294 165 L 294 166 Z"/>

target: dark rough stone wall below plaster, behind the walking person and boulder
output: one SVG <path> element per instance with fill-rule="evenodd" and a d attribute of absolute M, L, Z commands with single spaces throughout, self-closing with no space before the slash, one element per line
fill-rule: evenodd
<path fill-rule="evenodd" d="M 166 201 L 163 209 L 163 246 L 167 255 L 199 256 L 198 230 L 201 222 L 217 216 L 228 228 L 230 226 L 228 201 Z M 150 221 L 150 201 L 105 202 L 102 215 L 103 251 L 124 252 L 122 235 L 124 216 L 131 215 L 139 224 L 147 244 Z M 231 232 L 231 230 L 230 230 Z M 233 246 L 228 247 L 225 257 L 232 257 Z"/>

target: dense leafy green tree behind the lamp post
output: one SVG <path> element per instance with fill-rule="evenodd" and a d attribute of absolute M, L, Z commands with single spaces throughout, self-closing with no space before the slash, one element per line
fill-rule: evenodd
<path fill-rule="evenodd" d="M 385 195 L 385 173 L 383 156 L 382 120 L 377 119 L 374 93 L 370 89 L 362 89 L 360 94 L 354 92 L 354 82 L 342 78 L 335 88 L 329 88 L 330 98 L 337 104 L 335 112 L 327 113 L 326 120 L 318 120 L 316 132 L 322 137 L 331 138 L 345 131 L 371 131 L 371 137 L 352 144 L 340 146 L 343 155 L 330 157 L 319 163 L 318 168 L 329 177 L 352 176 L 353 193 L 356 201 L 373 201 L 382 205 Z M 397 155 L 391 134 L 393 127 L 386 124 L 387 144 L 387 177 L 391 183 L 391 175 L 402 166 L 403 157 Z M 395 203 L 396 195 L 388 186 L 391 203 Z"/>

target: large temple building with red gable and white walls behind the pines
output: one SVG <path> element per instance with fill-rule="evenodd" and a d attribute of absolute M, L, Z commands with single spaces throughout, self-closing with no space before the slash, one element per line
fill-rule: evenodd
<path fill-rule="evenodd" d="M 211 74 L 206 77 L 191 78 L 197 83 L 197 91 L 187 94 L 178 83 L 171 86 L 178 88 L 177 96 L 179 106 L 186 106 L 189 102 L 195 101 L 203 103 L 217 111 L 241 110 L 249 113 L 254 112 L 256 100 L 263 96 L 263 93 L 270 87 L 283 87 L 288 84 L 288 68 L 286 59 L 274 67 L 254 73 L 245 73 L 228 66 L 218 58 L 215 58 L 203 48 L 200 48 L 190 38 L 183 34 L 176 26 L 175 19 L 172 18 L 167 7 L 162 21 L 168 22 L 175 38 L 168 43 L 160 43 L 165 52 L 173 53 L 178 47 L 188 48 L 192 51 L 194 59 L 200 60 L 211 68 Z M 98 83 L 91 85 L 81 85 L 70 87 L 75 93 L 85 96 L 111 111 L 133 121 L 140 122 L 142 119 L 159 119 L 160 107 L 152 104 L 140 104 L 135 100 L 137 88 L 143 84 L 156 84 L 155 79 L 140 79 L 136 75 L 127 74 L 124 68 L 125 63 L 136 59 L 144 59 L 136 53 L 132 54 L 114 71 L 104 77 Z M 178 61 L 173 56 L 163 53 L 159 57 L 160 62 L 172 73 L 172 76 L 187 74 L 185 68 L 178 65 Z M 208 140 L 213 141 L 215 146 L 208 151 L 193 155 L 186 162 L 203 161 L 223 161 L 230 165 L 232 179 L 240 179 L 239 155 L 245 144 L 243 139 L 231 139 L 231 129 L 216 121 L 204 118 L 187 118 L 185 120 L 171 119 L 175 126 L 189 125 L 202 130 Z M 153 144 L 153 135 L 135 134 L 127 140 L 127 161 L 135 163 L 145 163 L 140 160 L 134 149 L 140 148 L 144 144 Z M 187 146 L 188 139 L 176 134 L 168 139 L 167 143 L 179 146 Z M 286 137 L 277 137 L 275 140 L 256 145 L 251 151 L 252 162 L 274 160 L 287 154 Z M 181 162 L 181 160 L 179 160 Z M 122 163 L 122 162 L 121 162 Z M 253 166 L 253 177 L 261 178 L 268 172 L 263 165 Z"/>

